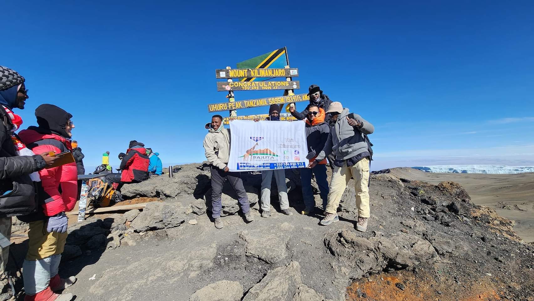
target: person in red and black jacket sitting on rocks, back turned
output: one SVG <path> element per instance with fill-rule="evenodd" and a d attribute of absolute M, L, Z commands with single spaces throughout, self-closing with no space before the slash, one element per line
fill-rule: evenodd
<path fill-rule="evenodd" d="M 121 173 L 106 175 L 106 180 L 110 183 L 119 183 L 117 190 L 120 190 L 122 184 L 139 183 L 148 180 L 148 164 L 150 159 L 146 155 L 145 144 L 130 141 L 126 155 L 121 161 Z"/>

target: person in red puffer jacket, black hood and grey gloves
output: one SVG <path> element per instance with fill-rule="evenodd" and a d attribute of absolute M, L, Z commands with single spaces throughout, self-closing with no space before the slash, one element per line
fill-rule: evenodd
<path fill-rule="evenodd" d="M 51 104 L 35 110 L 38 127 L 21 130 L 20 140 L 33 152 L 72 152 L 70 137 L 75 128 L 72 115 Z M 77 197 L 77 167 L 75 161 L 49 167 L 39 172 L 43 191 L 39 194 L 40 208 L 29 221 L 28 253 L 22 265 L 25 301 L 70 300 L 72 294 L 58 295 L 76 281 L 76 277 L 61 279 L 58 274 L 61 253 L 67 241 L 67 215 Z"/>

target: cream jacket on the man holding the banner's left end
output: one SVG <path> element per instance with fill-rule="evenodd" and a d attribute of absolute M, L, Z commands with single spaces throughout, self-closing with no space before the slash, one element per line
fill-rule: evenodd
<path fill-rule="evenodd" d="M 230 159 L 230 131 L 223 128 L 217 132 L 210 127 L 208 132 L 203 143 L 206 159 L 211 165 L 224 169 Z"/>

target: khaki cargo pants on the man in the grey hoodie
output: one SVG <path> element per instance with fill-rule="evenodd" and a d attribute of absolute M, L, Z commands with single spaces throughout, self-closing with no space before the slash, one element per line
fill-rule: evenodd
<path fill-rule="evenodd" d="M 328 203 L 326 212 L 337 213 L 337 207 L 341 196 L 347 188 L 350 178 L 354 179 L 354 190 L 356 191 L 356 206 L 358 207 L 358 217 L 369 217 L 369 159 L 363 158 L 356 165 L 347 167 L 347 160 L 343 167 L 334 167 L 332 180 L 330 181 L 330 192 L 328 193 Z"/>

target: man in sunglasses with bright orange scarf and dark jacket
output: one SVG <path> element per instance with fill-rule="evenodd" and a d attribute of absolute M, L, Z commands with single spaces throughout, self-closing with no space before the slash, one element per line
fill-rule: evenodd
<path fill-rule="evenodd" d="M 306 140 L 308 142 L 308 156 L 306 158 L 312 163 L 325 147 L 330 129 L 325 123 L 325 110 L 316 105 L 308 107 L 308 116 L 305 121 Z M 311 190 L 312 173 L 315 174 L 315 180 L 319 186 L 320 196 L 323 200 L 323 211 L 326 209 L 328 181 L 326 180 L 326 159 L 323 159 L 313 168 L 301 168 L 302 197 L 305 205 L 304 210 L 301 212 L 302 214 L 312 213 L 313 207 L 315 207 L 315 199 Z"/>

